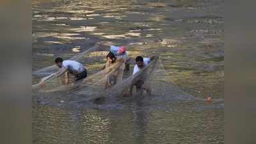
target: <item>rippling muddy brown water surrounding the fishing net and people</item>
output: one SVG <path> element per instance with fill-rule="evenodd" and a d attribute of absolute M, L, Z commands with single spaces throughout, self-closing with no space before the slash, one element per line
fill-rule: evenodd
<path fill-rule="evenodd" d="M 185 92 L 223 99 L 224 1 L 34 0 L 33 70 L 70 58 L 95 42 L 159 54 Z M 132 56 L 135 57 L 135 56 Z M 99 63 L 90 64 L 97 68 Z M 33 83 L 40 77 L 33 76 Z M 33 143 L 223 143 L 223 104 L 132 102 L 110 108 L 33 106 Z"/>

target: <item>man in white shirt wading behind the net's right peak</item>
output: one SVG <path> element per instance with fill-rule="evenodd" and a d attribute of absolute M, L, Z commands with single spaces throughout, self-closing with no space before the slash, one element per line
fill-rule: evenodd
<path fill-rule="evenodd" d="M 137 56 L 137 58 L 135 59 L 136 65 L 134 66 L 132 75 L 135 75 L 142 68 L 146 67 L 150 63 L 150 61 L 154 60 L 154 57 L 155 56 L 150 56 L 149 58 L 143 58 L 142 56 Z M 143 84 L 145 81 L 145 76 L 147 76 L 147 74 L 141 74 L 141 76 L 138 76 L 138 80 L 135 78 L 136 81 L 131 84 L 128 96 L 130 96 L 130 97 L 132 96 L 132 91 L 133 91 L 134 86 L 136 86 L 136 92 L 141 92 L 141 94 L 142 94 L 143 89 L 144 89 L 144 90 L 146 90 L 146 92 L 148 94 L 151 93 L 151 88 L 143 87 Z"/>

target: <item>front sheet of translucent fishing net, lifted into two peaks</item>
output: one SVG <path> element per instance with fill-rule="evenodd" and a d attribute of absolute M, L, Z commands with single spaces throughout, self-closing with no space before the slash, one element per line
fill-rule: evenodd
<path fill-rule="evenodd" d="M 34 92 L 38 102 L 52 105 L 120 104 L 131 100 L 146 100 L 154 97 L 154 102 L 163 100 L 191 100 L 193 96 L 180 90 L 170 81 L 161 60 L 155 58 L 149 65 L 134 75 L 124 77 L 124 62 L 115 63 L 100 70 L 84 81 L 70 85 Z M 112 81 L 112 82 L 111 82 Z M 113 82 L 115 81 L 115 82 Z M 138 81 L 141 88 L 136 90 Z M 134 87 L 132 95 L 127 95 Z M 159 98 L 159 99 L 158 99 Z"/>

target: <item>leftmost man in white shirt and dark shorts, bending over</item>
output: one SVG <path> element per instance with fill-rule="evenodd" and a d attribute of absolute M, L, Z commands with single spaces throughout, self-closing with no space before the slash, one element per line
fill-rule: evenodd
<path fill-rule="evenodd" d="M 55 63 L 59 68 L 61 68 L 60 74 L 62 74 L 63 71 L 67 70 L 70 74 L 73 74 L 75 76 L 74 81 L 79 81 L 80 79 L 84 79 L 85 77 L 87 77 L 86 68 L 77 61 L 72 61 L 72 60 L 64 61 L 62 58 L 56 58 Z M 67 74 L 67 81 L 68 81 L 68 74 Z"/>

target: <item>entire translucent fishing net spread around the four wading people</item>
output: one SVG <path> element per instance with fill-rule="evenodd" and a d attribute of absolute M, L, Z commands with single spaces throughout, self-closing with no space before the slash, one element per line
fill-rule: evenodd
<path fill-rule="evenodd" d="M 65 73 L 56 77 L 54 72 L 57 72 L 58 68 L 55 65 L 36 70 L 34 74 L 50 72 L 51 75 L 42 78 L 43 84 L 33 85 L 33 99 L 41 104 L 54 106 L 122 104 L 132 100 L 151 100 L 157 105 L 163 102 L 204 100 L 189 95 L 175 86 L 169 72 L 164 69 L 163 63 L 157 56 L 134 75 L 132 68 L 124 72 L 125 61 L 116 62 L 102 70 L 108 52 L 108 46 L 96 44 L 70 58 L 86 64 L 86 67 L 97 65 L 97 68 L 87 67 L 88 75 L 81 81 L 72 82 L 73 78 L 70 77 L 69 83 L 63 84 Z M 129 61 L 133 67 L 134 60 Z M 137 90 L 138 85 L 141 88 Z"/>

